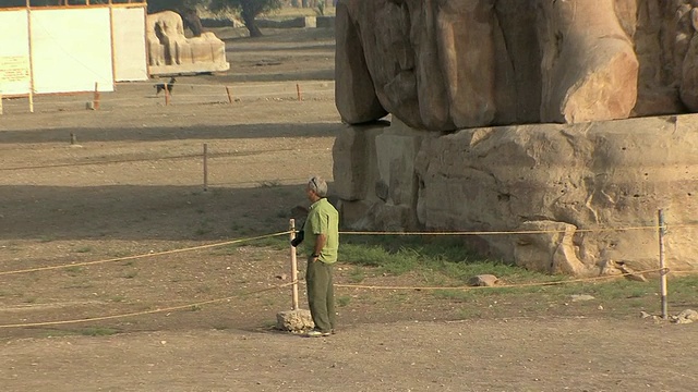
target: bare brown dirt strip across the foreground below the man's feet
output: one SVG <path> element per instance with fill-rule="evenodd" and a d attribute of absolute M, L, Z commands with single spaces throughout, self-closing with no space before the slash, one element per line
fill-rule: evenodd
<path fill-rule="evenodd" d="M 605 331 L 605 332 L 601 332 Z M 11 341 L 3 391 L 694 391 L 690 326 L 592 319 Z"/>

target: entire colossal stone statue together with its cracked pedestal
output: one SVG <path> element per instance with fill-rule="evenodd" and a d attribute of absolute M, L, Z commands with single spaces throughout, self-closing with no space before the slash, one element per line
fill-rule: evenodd
<path fill-rule="evenodd" d="M 339 0 L 336 21 L 345 226 L 516 231 L 468 238 L 598 275 L 658 267 L 662 208 L 669 265 L 698 267 L 693 2 Z"/>

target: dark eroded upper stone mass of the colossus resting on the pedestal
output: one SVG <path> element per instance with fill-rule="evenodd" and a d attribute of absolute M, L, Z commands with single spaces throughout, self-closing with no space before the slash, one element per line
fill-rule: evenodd
<path fill-rule="evenodd" d="M 693 0 L 340 0 L 337 108 L 413 128 L 698 110 Z"/>

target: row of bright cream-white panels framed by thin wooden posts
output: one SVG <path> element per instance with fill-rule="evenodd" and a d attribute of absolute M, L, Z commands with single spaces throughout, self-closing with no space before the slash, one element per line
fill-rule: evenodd
<path fill-rule="evenodd" d="M 112 91 L 115 81 L 147 79 L 145 17 L 142 5 L 0 9 L 0 94 L 92 91 L 95 83 Z"/>

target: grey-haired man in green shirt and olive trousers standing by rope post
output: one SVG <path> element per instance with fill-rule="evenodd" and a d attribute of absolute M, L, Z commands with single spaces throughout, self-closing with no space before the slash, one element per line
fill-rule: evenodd
<path fill-rule="evenodd" d="M 309 338 L 329 336 L 335 331 L 335 291 L 333 264 L 337 261 L 339 247 L 339 213 L 327 201 L 327 183 L 320 176 L 310 179 L 305 186 L 311 203 L 308 219 L 299 238 L 291 244 L 298 246 L 308 240 L 310 256 L 305 269 L 308 305 L 315 328 Z"/>

